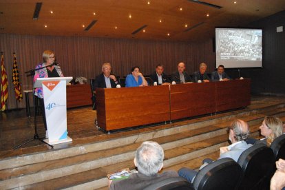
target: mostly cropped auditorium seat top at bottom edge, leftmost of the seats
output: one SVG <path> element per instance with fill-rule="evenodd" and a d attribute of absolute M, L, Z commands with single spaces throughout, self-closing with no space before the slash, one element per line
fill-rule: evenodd
<path fill-rule="evenodd" d="M 193 190 L 191 183 L 181 177 L 167 178 L 160 182 L 149 185 L 144 190 Z"/>

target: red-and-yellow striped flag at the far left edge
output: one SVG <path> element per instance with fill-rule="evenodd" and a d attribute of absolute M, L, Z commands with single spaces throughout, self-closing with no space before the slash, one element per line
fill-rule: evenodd
<path fill-rule="evenodd" d="M 6 101 L 8 99 L 8 79 L 4 66 L 4 56 L 1 54 L 1 110 L 6 110 Z"/>

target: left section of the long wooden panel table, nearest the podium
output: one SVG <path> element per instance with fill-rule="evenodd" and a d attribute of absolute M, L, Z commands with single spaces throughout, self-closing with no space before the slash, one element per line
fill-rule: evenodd
<path fill-rule="evenodd" d="M 98 126 L 106 131 L 170 120 L 169 85 L 96 89 Z"/>

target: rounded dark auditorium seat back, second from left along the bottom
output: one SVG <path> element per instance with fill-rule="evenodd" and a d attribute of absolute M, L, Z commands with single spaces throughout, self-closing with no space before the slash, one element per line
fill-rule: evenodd
<path fill-rule="evenodd" d="M 235 189 L 242 179 L 240 165 L 231 158 L 222 158 L 200 169 L 193 181 L 196 190 Z"/>

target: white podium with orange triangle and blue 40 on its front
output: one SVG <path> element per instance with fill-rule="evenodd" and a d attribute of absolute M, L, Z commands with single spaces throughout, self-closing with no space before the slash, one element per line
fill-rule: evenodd
<path fill-rule="evenodd" d="M 34 87 L 43 88 L 45 104 L 45 119 L 47 121 L 48 139 L 50 145 L 70 142 L 67 136 L 66 85 L 72 77 L 37 78 Z"/>

